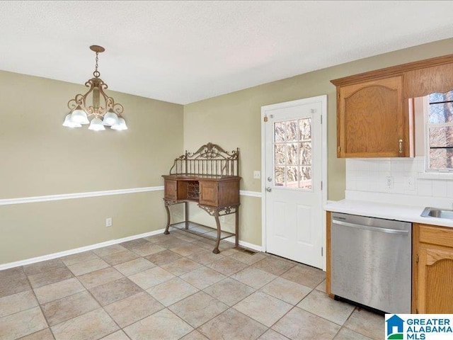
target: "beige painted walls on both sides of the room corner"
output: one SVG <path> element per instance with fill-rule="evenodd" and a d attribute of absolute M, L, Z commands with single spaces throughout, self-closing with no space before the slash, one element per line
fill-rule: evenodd
<path fill-rule="evenodd" d="M 453 39 L 370 57 L 180 106 L 109 93 L 125 106 L 130 130 L 62 127 L 82 85 L 0 71 L 0 199 L 161 186 L 173 159 L 206 142 L 241 148 L 241 190 L 260 191 L 260 108 L 328 95 L 328 198 L 343 198 L 345 162 L 336 158 L 331 79 L 453 53 Z M 108 79 L 106 79 L 108 81 Z M 183 137 L 184 136 L 184 137 Z M 162 192 L 0 206 L 0 264 L 165 226 Z M 241 239 L 261 244 L 260 198 L 241 196 Z M 175 209 L 177 215 L 181 212 Z M 195 220 L 212 217 L 191 209 Z M 105 218 L 113 217 L 113 227 Z M 226 228 L 233 219 L 226 217 Z"/>

